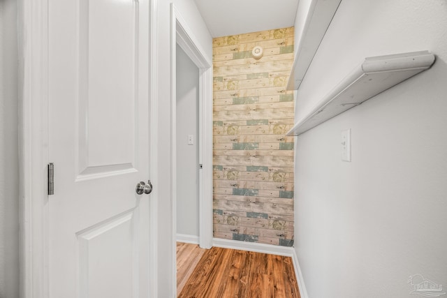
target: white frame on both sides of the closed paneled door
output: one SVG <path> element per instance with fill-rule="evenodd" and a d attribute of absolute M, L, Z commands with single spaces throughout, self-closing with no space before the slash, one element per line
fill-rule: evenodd
<path fill-rule="evenodd" d="M 19 0 L 19 200 L 20 200 L 20 298 L 49 297 L 48 275 L 48 1 Z M 158 71 L 156 0 L 149 0 L 150 14 L 150 73 L 149 106 L 150 177 L 156 186 L 158 172 Z M 149 86 L 148 86 L 149 88 Z M 157 297 L 158 283 L 156 237 L 156 187 L 150 198 L 149 287 L 151 297 Z"/>

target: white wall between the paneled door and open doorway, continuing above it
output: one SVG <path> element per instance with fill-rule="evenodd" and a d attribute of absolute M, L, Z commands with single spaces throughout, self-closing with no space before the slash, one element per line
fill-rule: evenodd
<path fill-rule="evenodd" d="M 200 46 L 207 52 L 210 59 L 212 57 L 212 37 L 208 32 L 205 22 L 203 22 L 200 13 L 193 0 L 174 0 L 163 1 L 157 0 L 157 31 L 159 38 L 156 40 L 158 45 L 158 89 L 159 89 L 159 135 L 157 149 L 159 151 L 159 172 L 156 177 L 158 183 L 154 185 L 157 188 L 159 202 L 159 216 L 157 225 L 166 228 L 165 234 L 159 234 L 156 247 L 158 250 L 159 260 L 171 260 L 175 256 L 175 239 L 171 233 L 175 229 L 172 226 L 173 218 L 171 217 L 173 210 L 173 197 L 171 191 L 172 172 L 170 164 L 170 3 L 175 3 L 179 14 L 182 15 L 186 23 L 194 32 L 196 39 L 199 40 Z M 210 100 L 212 100 L 210 98 Z M 161 283 L 159 288 L 159 297 L 174 297 L 173 276 L 175 275 L 175 264 L 169 266 L 165 262 L 160 262 L 157 276 Z"/>

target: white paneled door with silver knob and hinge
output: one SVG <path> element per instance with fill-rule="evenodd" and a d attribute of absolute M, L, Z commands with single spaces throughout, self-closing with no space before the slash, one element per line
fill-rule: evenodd
<path fill-rule="evenodd" d="M 149 1 L 50 0 L 50 298 L 149 297 Z"/>

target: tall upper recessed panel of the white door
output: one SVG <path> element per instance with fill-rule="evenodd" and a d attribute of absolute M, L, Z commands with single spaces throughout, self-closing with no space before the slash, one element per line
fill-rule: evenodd
<path fill-rule="evenodd" d="M 77 181 L 138 169 L 138 10 L 133 0 L 78 0 Z"/>

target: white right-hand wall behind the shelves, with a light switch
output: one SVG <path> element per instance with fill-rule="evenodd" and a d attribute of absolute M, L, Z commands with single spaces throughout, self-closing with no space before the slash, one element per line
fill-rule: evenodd
<path fill-rule="evenodd" d="M 414 297 L 413 274 L 447 285 L 446 28 L 445 0 L 340 4 L 298 117 L 365 57 L 430 50 L 437 61 L 297 138 L 295 250 L 309 297 Z"/>

